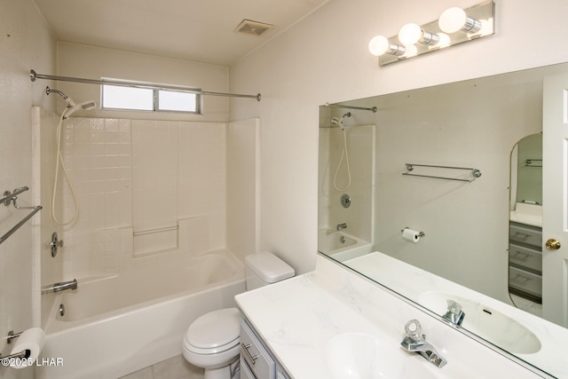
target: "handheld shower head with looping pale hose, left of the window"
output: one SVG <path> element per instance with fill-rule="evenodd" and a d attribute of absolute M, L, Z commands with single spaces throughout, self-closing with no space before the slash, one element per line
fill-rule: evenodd
<path fill-rule="evenodd" d="M 49 95 L 51 92 L 57 93 L 61 98 L 63 98 L 67 102 L 67 107 L 63 109 L 61 112 L 61 116 L 59 117 L 59 124 L 56 131 L 56 139 L 57 139 L 57 154 L 55 159 L 55 178 L 53 180 L 53 193 L 51 196 L 51 217 L 53 221 L 58 225 L 69 225 L 75 222 L 77 216 L 79 215 L 79 202 L 77 201 L 77 194 L 75 193 L 75 188 L 69 179 L 67 174 L 67 168 L 65 167 L 65 163 L 63 162 L 63 156 L 61 155 L 61 126 L 63 124 L 63 120 L 67 120 L 71 116 L 71 114 L 75 114 L 77 111 L 90 111 L 97 107 L 97 104 L 93 100 L 83 101 L 82 103 L 76 104 L 75 101 L 69 98 L 65 93 L 59 90 L 53 90 L 49 87 L 45 88 L 45 94 Z M 61 166 L 61 170 L 63 170 L 63 174 L 67 179 L 67 184 L 69 185 L 69 189 L 71 190 L 71 195 L 73 197 L 73 202 L 75 204 L 75 211 L 73 216 L 67 221 L 61 221 L 55 214 L 55 205 L 56 205 L 56 194 L 58 190 L 57 182 L 59 178 L 59 165 Z"/>

